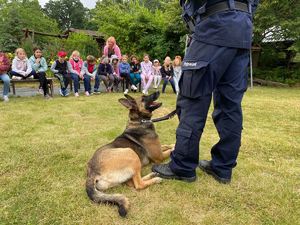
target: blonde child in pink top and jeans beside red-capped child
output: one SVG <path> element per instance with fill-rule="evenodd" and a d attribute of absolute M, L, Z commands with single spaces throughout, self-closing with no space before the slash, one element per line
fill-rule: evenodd
<path fill-rule="evenodd" d="M 80 58 L 80 53 L 77 50 L 72 52 L 69 62 L 73 69 L 73 72 L 71 72 L 71 78 L 74 83 L 74 95 L 75 97 L 78 97 L 79 80 L 83 80 L 83 76 L 80 73 L 83 61 Z"/>

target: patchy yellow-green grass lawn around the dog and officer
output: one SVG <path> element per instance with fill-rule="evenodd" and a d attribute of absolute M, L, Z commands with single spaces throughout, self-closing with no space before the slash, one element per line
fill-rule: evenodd
<path fill-rule="evenodd" d="M 300 89 L 255 87 L 246 93 L 230 185 L 198 170 L 190 184 L 165 180 L 143 191 L 119 186 L 110 192 L 129 198 L 125 219 L 117 207 L 94 204 L 85 193 L 86 163 L 125 128 L 128 113 L 120 97 L 0 102 L 0 224 L 300 224 Z M 154 117 L 176 103 L 171 93 L 160 100 Z M 175 142 L 177 124 L 177 118 L 156 124 L 163 144 Z M 209 116 L 200 158 L 209 159 L 217 140 Z"/>

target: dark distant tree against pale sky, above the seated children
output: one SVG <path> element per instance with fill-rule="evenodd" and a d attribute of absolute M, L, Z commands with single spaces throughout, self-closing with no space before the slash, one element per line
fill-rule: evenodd
<path fill-rule="evenodd" d="M 84 28 L 89 12 L 80 0 L 50 0 L 45 4 L 44 11 L 49 17 L 57 21 L 62 30 L 71 27 Z"/>

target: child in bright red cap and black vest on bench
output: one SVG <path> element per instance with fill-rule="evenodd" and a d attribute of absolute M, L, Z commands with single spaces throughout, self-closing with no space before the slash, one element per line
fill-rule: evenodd
<path fill-rule="evenodd" d="M 60 95 L 68 96 L 67 87 L 69 85 L 70 73 L 73 72 L 71 64 L 66 61 L 67 53 L 60 51 L 57 53 L 58 59 L 51 65 L 50 70 L 54 73 L 54 76 L 58 78 L 60 82 Z"/>

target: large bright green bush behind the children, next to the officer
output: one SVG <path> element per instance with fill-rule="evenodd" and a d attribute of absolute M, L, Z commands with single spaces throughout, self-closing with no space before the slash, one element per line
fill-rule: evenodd
<path fill-rule="evenodd" d="M 123 53 L 139 56 L 148 53 L 160 59 L 183 53 L 180 40 L 184 27 L 178 16 L 178 1 L 162 3 L 162 10 L 153 11 L 139 1 L 105 0 L 98 2 L 92 14 L 101 32 L 116 37 Z"/>

